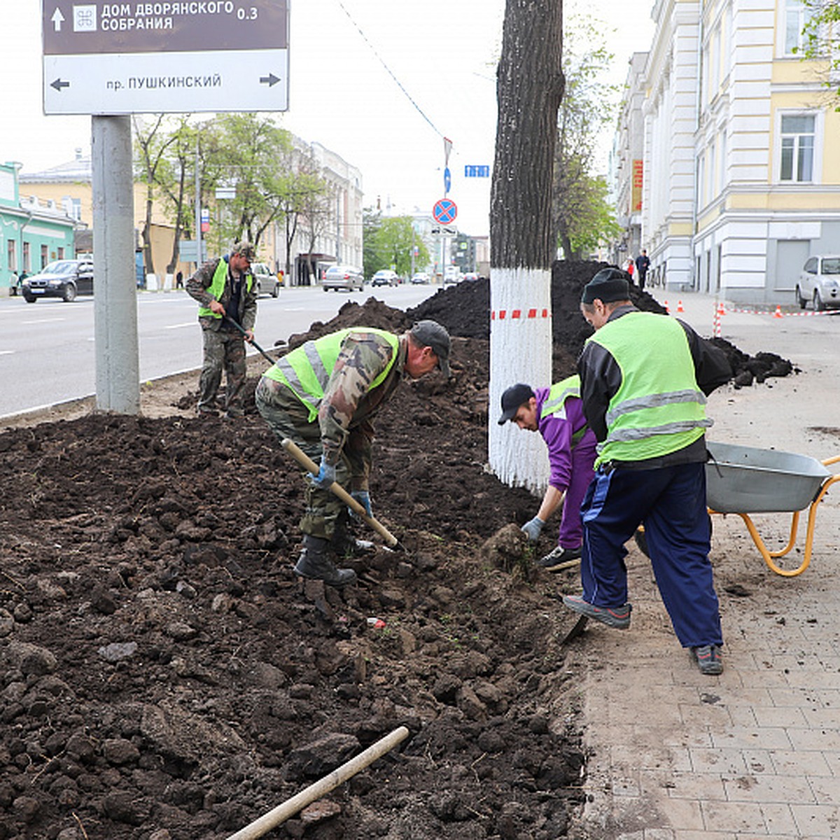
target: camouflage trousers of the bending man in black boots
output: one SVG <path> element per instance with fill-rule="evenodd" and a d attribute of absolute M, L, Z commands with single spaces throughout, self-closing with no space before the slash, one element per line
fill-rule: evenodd
<path fill-rule="evenodd" d="M 263 376 L 256 388 L 255 399 L 260 412 L 278 440 L 289 438 L 294 441 L 316 465 L 321 462 L 321 429 L 318 421 L 309 420 L 309 409 L 295 396 L 290 388 Z M 290 456 L 291 465 L 291 456 Z M 345 528 L 348 509 L 343 501 L 331 491 L 322 490 L 312 483 L 303 472 L 306 485 L 306 512 L 300 522 L 303 533 L 311 537 L 333 540 Z M 336 465 L 335 480 L 343 487 L 349 487 L 350 468 L 342 456 Z"/>

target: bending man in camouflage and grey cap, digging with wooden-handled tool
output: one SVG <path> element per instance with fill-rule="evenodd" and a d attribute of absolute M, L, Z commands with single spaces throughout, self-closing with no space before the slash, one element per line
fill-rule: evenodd
<path fill-rule="evenodd" d="M 320 462 L 318 475 L 306 476 L 298 575 L 333 586 L 356 579 L 328 556 L 344 555 L 354 544 L 348 509 L 329 487 L 338 481 L 371 515 L 374 417 L 404 375 L 418 379 L 435 367 L 449 376 L 449 333 L 434 321 L 420 321 L 402 335 L 370 327 L 328 333 L 291 350 L 260 379 L 255 396 L 265 422 Z"/>

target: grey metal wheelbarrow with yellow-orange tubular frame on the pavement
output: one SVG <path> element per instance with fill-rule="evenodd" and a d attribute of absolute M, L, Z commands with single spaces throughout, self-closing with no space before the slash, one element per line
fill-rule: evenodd
<path fill-rule="evenodd" d="M 840 480 L 827 466 L 840 455 L 818 461 L 807 455 L 706 442 L 712 456 L 706 464 L 706 504 L 710 513 L 735 513 L 743 519 L 764 562 L 777 575 L 801 575 L 811 563 L 816 507 L 828 487 Z M 808 509 L 805 554 L 796 569 L 782 569 L 774 559 L 793 549 L 801 511 Z M 790 539 L 785 549 L 769 551 L 750 513 L 791 513 Z"/>

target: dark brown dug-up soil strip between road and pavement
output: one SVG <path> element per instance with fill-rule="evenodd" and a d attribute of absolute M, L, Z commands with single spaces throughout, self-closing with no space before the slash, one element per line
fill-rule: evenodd
<path fill-rule="evenodd" d="M 555 380 L 598 267 L 554 267 Z M 586 756 L 560 598 L 578 573 L 533 569 L 555 525 L 529 549 L 537 500 L 486 467 L 488 305 L 486 282 L 412 312 L 370 298 L 290 340 L 419 318 L 454 335 L 452 379 L 404 383 L 377 423 L 374 512 L 406 550 L 348 559 L 360 582 L 325 600 L 292 572 L 303 482 L 253 407 L 260 357 L 239 421 L 195 417 L 191 375 L 145 388 L 140 417 L 80 403 L 6 423 L 0 840 L 228 837 L 401 726 L 267 836 L 574 832 Z"/>

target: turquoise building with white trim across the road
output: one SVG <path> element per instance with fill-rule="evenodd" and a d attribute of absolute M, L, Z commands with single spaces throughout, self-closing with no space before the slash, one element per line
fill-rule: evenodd
<path fill-rule="evenodd" d="M 20 164 L 0 164 L 0 294 L 8 295 L 25 272 L 76 255 L 76 218 L 69 207 L 35 196 L 21 197 Z"/>

